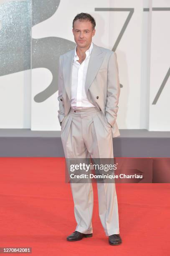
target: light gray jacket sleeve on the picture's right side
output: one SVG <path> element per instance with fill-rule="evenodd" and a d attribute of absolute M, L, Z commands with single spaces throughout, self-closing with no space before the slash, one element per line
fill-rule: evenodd
<path fill-rule="evenodd" d="M 107 103 L 105 116 L 108 123 L 113 127 L 117 119 L 118 102 L 120 95 L 119 69 L 117 64 L 117 54 L 113 51 L 108 63 L 107 72 Z"/>

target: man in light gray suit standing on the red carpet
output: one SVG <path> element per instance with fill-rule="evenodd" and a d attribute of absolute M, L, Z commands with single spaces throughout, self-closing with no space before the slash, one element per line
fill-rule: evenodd
<path fill-rule="evenodd" d="M 58 119 L 67 159 L 113 158 L 112 137 L 120 135 L 116 118 L 120 94 L 117 55 L 92 43 L 95 20 L 80 13 L 73 20 L 75 49 L 60 56 Z M 110 245 L 122 243 L 115 183 L 97 183 L 99 216 Z M 76 230 L 67 241 L 91 237 L 91 183 L 71 183 Z"/>

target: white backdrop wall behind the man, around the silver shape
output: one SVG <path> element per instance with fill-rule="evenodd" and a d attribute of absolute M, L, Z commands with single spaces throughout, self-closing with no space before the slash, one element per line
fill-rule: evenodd
<path fill-rule="evenodd" d="M 150 11 L 146 9 L 149 7 Z M 170 131 L 170 79 L 164 81 L 170 66 L 167 30 L 170 10 L 154 8 L 170 9 L 170 1 L 61 0 L 50 18 L 32 28 L 32 38 L 53 36 L 74 42 L 72 20 L 75 15 L 87 12 L 94 16 L 94 44 L 110 50 L 114 46 L 117 53 L 122 84 L 117 117 L 120 129 Z M 129 13 L 132 17 L 127 23 Z M 32 69 L 31 77 L 29 70 L 0 76 L 0 128 L 59 131 L 58 91 L 43 102 L 34 100 L 52 79 L 52 73 L 46 68 Z M 161 87 L 163 81 L 165 85 Z M 153 104 L 158 90 L 159 97 Z"/>

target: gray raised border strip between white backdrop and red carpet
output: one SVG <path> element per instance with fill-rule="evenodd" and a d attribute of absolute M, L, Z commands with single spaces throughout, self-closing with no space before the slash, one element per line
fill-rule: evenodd
<path fill-rule="evenodd" d="M 170 157 L 170 132 L 121 130 L 114 157 Z M 64 157 L 61 131 L 0 129 L 0 157 Z"/>

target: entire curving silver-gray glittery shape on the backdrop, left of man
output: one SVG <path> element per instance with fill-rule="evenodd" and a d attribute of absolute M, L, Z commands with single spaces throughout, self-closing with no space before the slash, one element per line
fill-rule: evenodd
<path fill-rule="evenodd" d="M 59 56 L 75 47 L 74 42 L 64 38 L 30 37 L 31 27 L 50 18 L 59 3 L 60 0 L 24 0 L 9 1 L 0 5 L 0 76 L 30 67 L 45 67 L 53 74 L 51 84 L 47 84 L 47 88 L 34 97 L 36 102 L 46 100 L 58 90 Z M 54 29 L 62 26 L 62 22 L 65 22 L 64 15 L 61 23 L 53 25 Z M 68 29 L 71 30 L 71 26 L 72 24 L 68 24 Z"/>

